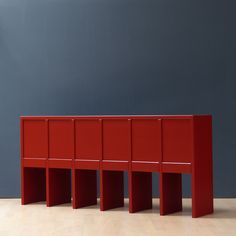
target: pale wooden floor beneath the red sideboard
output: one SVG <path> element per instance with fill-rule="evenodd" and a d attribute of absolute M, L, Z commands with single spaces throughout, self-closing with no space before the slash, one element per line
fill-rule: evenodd
<path fill-rule="evenodd" d="M 191 201 L 183 200 L 184 210 L 159 215 L 159 200 L 153 209 L 135 214 L 124 208 L 101 212 L 99 205 L 73 210 L 70 204 L 45 207 L 45 203 L 22 206 L 19 199 L 0 199 L 0 235 L 113 236 L 113 235 L 236 235 L 236 199 L 216 199 L 215 213 L 191 218 Z"/>

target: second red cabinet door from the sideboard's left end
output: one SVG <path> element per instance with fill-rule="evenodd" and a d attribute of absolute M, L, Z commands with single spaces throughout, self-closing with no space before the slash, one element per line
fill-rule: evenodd
<path fill-rule="evenodd" d="M 74 154 L 72 120 L 49 121 L 49 158 L 71 159 Z"/>

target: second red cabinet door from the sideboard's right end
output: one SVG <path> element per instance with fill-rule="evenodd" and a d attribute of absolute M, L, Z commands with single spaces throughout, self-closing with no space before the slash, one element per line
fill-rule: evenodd
<path fill-rule="evenodd" d="M 161 122 L 159 120 L 132 121 L 132 160 L 161 161 Z"/>

